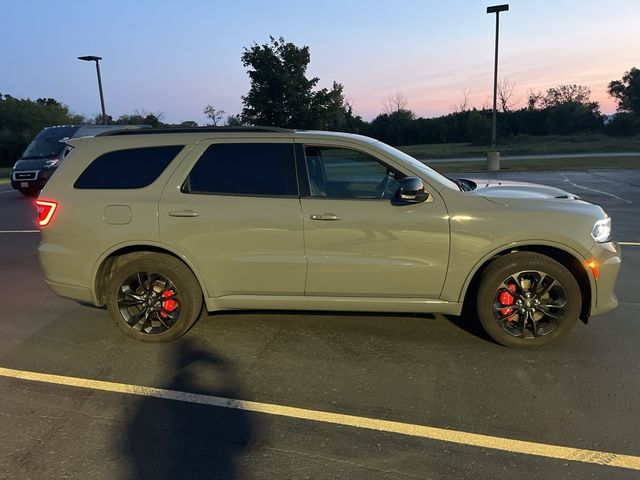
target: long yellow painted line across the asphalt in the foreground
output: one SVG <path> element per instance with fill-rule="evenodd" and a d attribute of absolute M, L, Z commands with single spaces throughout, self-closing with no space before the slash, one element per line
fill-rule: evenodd
<path fill-rule="evenodd" d="M 640 456 L 635 455 L 622 455 L 610 452 L 600 452 L 597 450 L 584 450 L 580 448 L 563 447 L 560 445 L 526 442 L 511 438 L 480 435 L 477 433 L 449 430 L 446 428 L 429 427 L 426 425 L 413 425 L 410 423 L 378 420 L 375 418 L 357 417 L 354 415 L 343 415 L 339 413 L 323 412 L 319 410 L 308 410 L 305 408 L 287 407 L 269 403 L 251 402 L 247 400 L 236 400 L 233 398 L 187 393 L 177 390 L 166 390 L 163 388 L 142 387 L 139 385 L 128 385 L 125 383 L 104 382 L 86 378 L 66 377 L 62 375 L 28 372 L 24 370 L 13 370 L 10 368 L 2 367 L 0 367 L 0 376 L 55 385 L 64 385 L 69 387 L 88 388 L 104 392 L 124 393 L 128 395 L 138 395 L 143 397 L 162 398 L 165 400 L 176 400 L 179 402 L 196 403 L 200 405 L 232 408 L 235 410 L 243 410 L 247 412 L 263 413 L 267 415 L 277 415 L 281 417 L 297 418 L 314 422 L 330 423 L 355 428 L 364 428 L 368 430 L 377 430 L 381 432 L 397 433 L 400 435 L 451 442 L 473 447 L 490 448 L 493 450 L 501 450 L 505 452 L 521 453 L 525 455 L 535 455 L 539 457 L 606 465 L 609 467 L 620 467 L 640 471 Z"/>

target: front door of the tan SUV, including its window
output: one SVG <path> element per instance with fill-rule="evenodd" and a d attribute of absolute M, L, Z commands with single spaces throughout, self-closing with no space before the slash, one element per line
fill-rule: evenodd
<path fill-rule="evenodd" d="M 405 175 L 357 150 L 305 145 L 310 195 L 301 199 L 306 295 L 438 298 L 449 224 L 435 190 L 394 201 Z"/>

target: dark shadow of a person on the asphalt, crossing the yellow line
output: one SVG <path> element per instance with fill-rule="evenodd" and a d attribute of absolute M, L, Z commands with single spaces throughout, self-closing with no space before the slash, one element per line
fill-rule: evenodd
<path fill-rule="evenodd" d="M 233 371 L 223 358 L 193 340 L 174 342 L 174 372 L 167 390 L 238 398 Z M 251 438 L 246 413 L 176 400 L 143 397 L 127 421 L 120 445 L 132 478 L 239 478 L 236 457 Z"/>

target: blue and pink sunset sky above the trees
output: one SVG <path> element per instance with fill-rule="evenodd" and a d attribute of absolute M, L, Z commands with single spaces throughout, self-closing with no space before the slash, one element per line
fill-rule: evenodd
<path fill-rule="evenodd" d="M 344 85 L 356 114 L 371 120 L 395 92 L 418 116 L 450 113 L 466 91 L 490 105 L 495 15 L 478 0 L 2 2 L 0 92 L 53 97 L 73 112 L 100 110 L 98 55 L 107 113 L 162 112 L 167 122 L 204 124 L 205 105 L 242 110 L 249 79 L 240 56 L 269 35 L 307 45 L 308 76 Z M 577 83 L 604 113 L 607 84 L 640 67 L 640 1 L 512 0 L 500 15 L 499 77 L 529 90 Z"/>

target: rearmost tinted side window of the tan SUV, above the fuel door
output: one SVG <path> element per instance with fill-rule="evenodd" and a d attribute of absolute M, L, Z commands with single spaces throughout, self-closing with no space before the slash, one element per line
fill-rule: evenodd
<path fill-rule="evenodd" d="M 184 145 L 129 148 L 96 158 L 73 184 L 81 189 L 130 189 L 151 185 Z"/>

